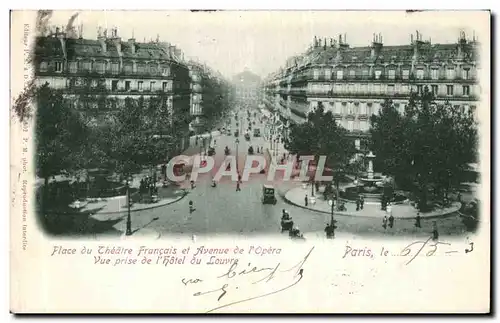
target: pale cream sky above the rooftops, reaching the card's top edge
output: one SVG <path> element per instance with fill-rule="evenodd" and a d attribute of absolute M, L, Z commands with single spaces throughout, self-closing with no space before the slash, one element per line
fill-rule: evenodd
<path fill-rule="evenodd" d="M 66 25 L 77 11 L 55 11 L 50 24 Z M 118 27 L 123 40 L 156 40 L 180 47 L 186 58 L 206 63 L 232 78 L 245 69 L 260 77 L 284 66 L 287 58 L 303 53 L 314 36 L 338 40 L 346 34 L 351 46 L 368 46 L 373 33 L 385 45 L 410 43 L 418 30 L 423 40 L 455 43 L 460 30 L 489 39 L 487 15 L 480 12 L 402 11 L 80 11 L 75 24 L 83 37 L 95 39 L 98 26 Z M 482 22 L 481 22 L 482 21 Z"/>

